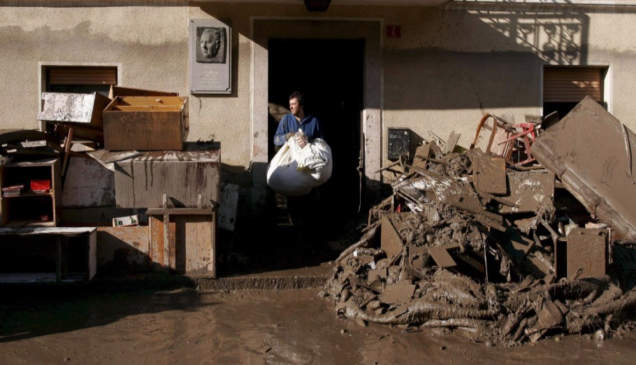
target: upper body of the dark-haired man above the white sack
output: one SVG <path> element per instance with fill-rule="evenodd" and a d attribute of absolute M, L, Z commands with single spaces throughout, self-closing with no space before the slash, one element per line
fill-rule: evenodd
<path fill-rule="evenodd" d="M 291 114 L 284 115 L 274 135 L 274 145 L 284 145 L 289 138 L 294 136 L 298 129 L 303 129 L 305 138 L 296 136 L 296 143 L 305 147 L 308 142 L 316 138 L 323 138 L 322 126 L 317 117 L 305 115 L 305 96 L 300 92 L 294 92 L 289 96 L 289 110 Z"/>

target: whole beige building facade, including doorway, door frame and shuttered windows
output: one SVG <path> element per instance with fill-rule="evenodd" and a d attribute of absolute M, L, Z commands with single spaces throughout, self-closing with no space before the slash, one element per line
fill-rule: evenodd
<path fill-rule="evenodd" d="M 192 20 L 229 27 L 229 93 L 191 92 Z M 456 131 L 468 147 L 484 113 L 519 123 L 591 92 L 636 130 L 635 20 L 631 0 L 333 0 L 324 12 L 300 0 L 0 1 L 0 129 L 39 128 L 60 69 L 107 69 L 116 85 L 188 96 L 188 139 L 219 141 L 222 180 L 259 208 L 270 111 L 302 90 L 334 154 L 326 194 L 355 210 L 392 178 L 380 172 L 389 129 L 412 145 Z"/>

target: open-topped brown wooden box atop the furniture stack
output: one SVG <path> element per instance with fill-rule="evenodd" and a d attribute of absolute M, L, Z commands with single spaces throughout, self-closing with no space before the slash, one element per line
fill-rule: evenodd
<path fill-rule="evenodd" d="M 104 149 L 182 150 L 189 131 L 184 96 L 117 96 L 103 111 Z"/>

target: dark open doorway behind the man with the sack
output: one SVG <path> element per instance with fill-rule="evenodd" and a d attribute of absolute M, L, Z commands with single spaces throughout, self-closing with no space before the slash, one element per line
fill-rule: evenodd
<path fill-rule="evenodd" d="M 326 237 L 354 220 L 361 196 L 361 117 L 364 39 L 268 39 L 268 103 L 289 107 L 289 95 L 305 94 L 305 113 L 318 117 L 331 147 L 331 178 L 318 188 Z M 279 120 L 268 122 L 268 157 Z"/>

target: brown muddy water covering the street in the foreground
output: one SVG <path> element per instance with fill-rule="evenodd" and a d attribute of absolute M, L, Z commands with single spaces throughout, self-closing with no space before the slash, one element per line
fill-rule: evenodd
<path fill-rule="evenodd" d="M 6 290 L 0 364 L 633 364 L 636 334 L 489 347 L 339 320 L 316 289 Z"/>

